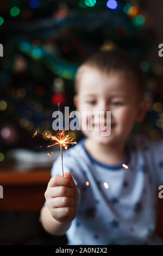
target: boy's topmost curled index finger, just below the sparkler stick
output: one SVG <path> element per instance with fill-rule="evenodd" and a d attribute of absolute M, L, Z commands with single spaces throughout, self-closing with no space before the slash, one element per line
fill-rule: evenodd
<path fill-rule="evenodd" d="M 56 186 L 73 187 L 73 182 L 70 179 L 65 179 L 63 176 L 55 175 L 50 179 L 48 187 Z"/>

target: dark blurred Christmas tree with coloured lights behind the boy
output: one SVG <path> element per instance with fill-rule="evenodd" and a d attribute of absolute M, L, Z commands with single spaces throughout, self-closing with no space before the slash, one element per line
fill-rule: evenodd
<path fill-rule="evenodd" d="M 137 58 L 148 75 L 151 108 L 144 129 L 153 138 L 162 136 L 157 87 L 162 67 L 148 62 L 156 36 L 144 1 L 8 0 L 1 3 L 0 25 L 1 161 L 10 148 L 34 148 L 38 141 L 31 137 L 37 127 L 52 132 L 57 103 L 74 109 L 73 79 L 79 64 L 114 46 Z M 79 138 L 74 132 L 71 136 Z"/>

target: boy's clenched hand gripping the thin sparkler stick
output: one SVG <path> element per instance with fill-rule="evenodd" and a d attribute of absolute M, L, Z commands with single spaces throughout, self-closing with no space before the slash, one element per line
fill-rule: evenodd
<path fill-rule="evenodd" d="M 70 222 L 77 215 L 79 192 L 70 173 L 55 175 L 45 192 L 46 203 L 52 217 L 59 222 Z"/>

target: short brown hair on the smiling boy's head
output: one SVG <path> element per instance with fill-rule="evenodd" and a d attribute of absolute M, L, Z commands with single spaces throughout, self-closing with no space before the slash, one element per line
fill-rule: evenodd
<path fill-rule="evenodd" d="M 118 49 L 107 52 L 99 51 L 86 59 L 77 70 L 75 78 L 76 93 L 78 93 L 80 75 L 87 67 L 96 68 L 104 74 L 109 74 L 112 71 L 121 72 L 136 82 L 137 92 L 139 92 L 140 98 L 143 98 L 145 93 L 145 75 L 136 60 L 131 58 L 126 52 Z"/>

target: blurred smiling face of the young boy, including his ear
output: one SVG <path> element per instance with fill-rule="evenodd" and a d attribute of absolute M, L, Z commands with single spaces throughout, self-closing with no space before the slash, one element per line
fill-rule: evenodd
<path fill-rule="evenodd" d="M 105 145 L 125 142 L 134 122 L 141 121 L 145 115 L 145 105 L 139 101 L 138 95 L 134 81 L 120 72 L 106 75 L 97 69 L 87 68 L 79 77 L 78 95 L 74 97 L 74 103 L 80 116 L 83 111 L 104 111 L 105 125 L 108 125 L 106 111 L 111 111 L 111 133 L 101 136 L 100 124 L 95 120 L 93 127 L 98 127 L 98 130 L 83 131 L 84 135 Z"/>

